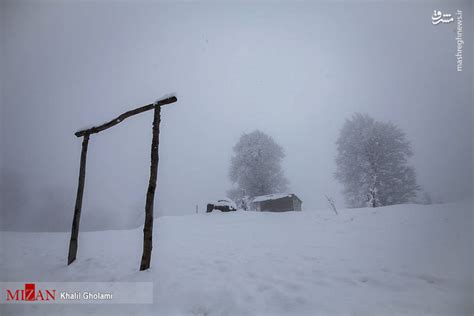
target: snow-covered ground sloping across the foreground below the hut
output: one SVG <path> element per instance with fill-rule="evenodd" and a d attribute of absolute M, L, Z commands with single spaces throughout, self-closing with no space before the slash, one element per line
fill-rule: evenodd
<path fill-rule="evenodd" d="M 141 229 L 0 233 L 1 281 L 152 281 L 152 305 L 0 305 L 1 315 L 472 315 L 472 202 L 155 221 Z"/>

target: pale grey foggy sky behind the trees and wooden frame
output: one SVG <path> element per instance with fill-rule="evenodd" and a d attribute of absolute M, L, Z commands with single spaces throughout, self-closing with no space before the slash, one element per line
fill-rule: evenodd
<path fill-rule="evenodd" d="M 327 208 L 324 194 L 341 207 L 335 141 L 354 112 L 406 132 L 435 199 L 472 195 L 470 1 L 0 6 L 1 211 L 17 226 L 69 229 L 73 133 L 169 93 L 178 102 L 162 110 L 157 215 L 225 197 L 232 147 L 255 129 L 285 149 L 304 210 Z M 463 72 L 456 24 L 432 25 L 434 9 L 463 10 Z M 91 136 L 84 228 L 143 222 L 152 119 Z"/>

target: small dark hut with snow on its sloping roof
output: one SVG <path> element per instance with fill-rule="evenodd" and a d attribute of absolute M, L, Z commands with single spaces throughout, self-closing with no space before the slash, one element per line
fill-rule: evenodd
<path fill-rule="evenodd" d="M 293 193 L 268 194 L 254 197 L 250 209 L 257 212 L 301 211 L 302 203 Z"/>

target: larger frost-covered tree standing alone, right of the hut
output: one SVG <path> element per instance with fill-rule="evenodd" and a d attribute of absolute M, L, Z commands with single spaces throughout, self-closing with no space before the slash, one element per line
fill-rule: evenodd
<path fill-rule="evenodd" d="M 419 190 L 413 155 L 405 133 L 392 123 L 365 114 L 346 120 L 337 140 L 336 179 L 344 185 L 350 207 L 413 201 Z"/>

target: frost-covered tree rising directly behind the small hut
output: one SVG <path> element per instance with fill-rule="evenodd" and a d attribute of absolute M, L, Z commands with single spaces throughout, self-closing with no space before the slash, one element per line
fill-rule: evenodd
<path fill-rule="evenodd" d="M 287 190 L 281 168 L 285 153 L 271 136 L 259 130 L 243 134 L 233 150 L 229 178 L 236 187 L 228 191 L 232 199 Z"/>

